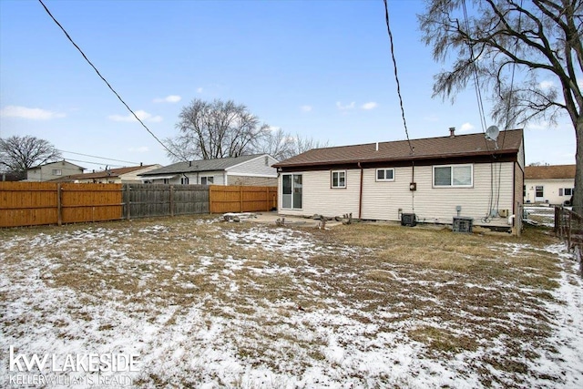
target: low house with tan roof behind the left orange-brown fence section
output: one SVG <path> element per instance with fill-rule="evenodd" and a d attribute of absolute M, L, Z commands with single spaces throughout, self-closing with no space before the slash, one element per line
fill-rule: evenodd
<path fill-rule="evenodd" d="M 91 173 L 74 174 L 71 176 L 53 179 L 59 182 L 97 183 L 97 184 L 141 184 L 142 179 L 138 174 L 159 169 L 162 165 L 139 165 L 128 168 L 107 169 L 93 171 Z"/>

